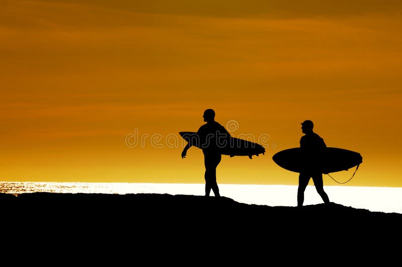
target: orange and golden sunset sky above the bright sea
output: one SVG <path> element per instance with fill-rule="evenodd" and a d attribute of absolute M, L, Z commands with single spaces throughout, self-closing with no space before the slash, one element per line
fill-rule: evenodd
<path fill-rule="evenodd" d="M 402 187 L 400 1 L 0 3 L 0 180 L 204 183 L 180 154 L 207 108 L 265 155 L 218 184 L 297 185 L 272 161 L 311 119 L 363 163 L 345 186 Z M 333 173 L 339 182 L 354 170 Z M 324 176 L 324 185 L 338 185 Z"/>

